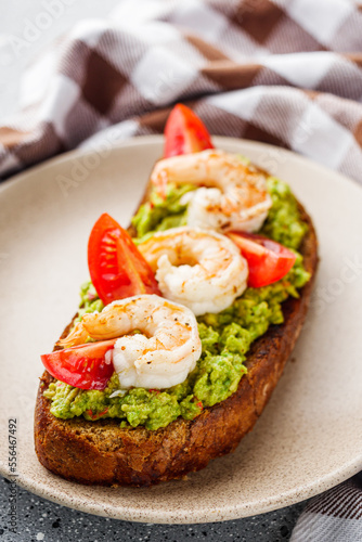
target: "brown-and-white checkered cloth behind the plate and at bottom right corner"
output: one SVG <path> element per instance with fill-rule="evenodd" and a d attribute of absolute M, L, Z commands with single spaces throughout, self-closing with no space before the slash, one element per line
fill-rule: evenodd
<path fill-rule="evenodd" d="M 21 55 L 24 43 L 11 47 Z M 78 145 L 159 133 L 177 101 L 211 133 L 289 147 L 362 182 L 362 5 L 124 0 L 25 74 L 22 109 L 0 127 L 0 175 Z M 263 166 L 273 172 L 272 160 Z M 294 542 L 362 540 L 361 494 L 353 479 L 311 501 Z"/>

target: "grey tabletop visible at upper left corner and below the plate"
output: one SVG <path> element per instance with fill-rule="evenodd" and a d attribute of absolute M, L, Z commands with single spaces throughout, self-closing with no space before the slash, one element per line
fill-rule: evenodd
<path fill-rule="evenodd" d="M 47 46 L 85 17 L 109 17 L 120 0 L 64 0 L 64 11 L 53 17 L 49 28 L 15 54 L 14 37 L 24 39 L 26 28 L 36 24 L 52 0 L 0 0 L 0 125 L 18 106 L 18 86 L 23 70 Z M 67 4 L 67 5 L 65 5 Z M 23 489 L 17 490 L 18 533 L 9 531 L 10 487 L 0 478 L 0 542 L 56 541 L 103 542 L 282 542 L 290 538 L 305 503 L 269 514 L 235 521 L 193 526 L 134 524 L 91 516 L 59 506 Z"/>

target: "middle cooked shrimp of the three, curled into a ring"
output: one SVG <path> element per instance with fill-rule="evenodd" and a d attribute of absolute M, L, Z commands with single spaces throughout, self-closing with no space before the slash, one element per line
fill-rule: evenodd
<path fill-rule="evenodd" d="M 236 245 L 211 230 L 173 228 L 138 245 L 167 299 L 194 314 L 220 312 L 246 288 L 248 266 Z"/>

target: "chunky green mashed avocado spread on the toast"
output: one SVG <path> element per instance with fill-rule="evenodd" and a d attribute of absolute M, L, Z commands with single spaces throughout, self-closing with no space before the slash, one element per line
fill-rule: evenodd
<path fill-rule="evenodd" d="M 273 205 L 260 233 L 297 251 L 307 231 L 300 220 L 297 202 L 287 184 L 269 178 L 268 189 Z M 186 204 L 181 198 L 193 185 L 167 186 L 166 196 L 153 191 L 150 201 L 142 205 L 132 220 L 137 240 L 155 231 L 186 223 Z M 105 390 L 82 390 L 59 380 L 50 384 L 44 396 L 52 401 L 51 413 L 61 418 L 83 416 L 86 420 L 120 418 L 121 426 L 144 425 L 147 429 L 166 427 L 179 416 L 193 420 L 205 406 L 223 401 L 237 389 L 246 373 L 244 362 L 254 340 L 263 335 L 271 324 L 283 322 L 282 302 L 298 297 L 310 275 L 305 270 L 302 257 L 297 259 L 281 281 L 261 288 L 247 288 L 231 307 L 218 314 L 197 318 L 202 340 L 202 356 L 196 367 L 182 383 L 165 390 L 132 388 L 118 389 L 114 373 Z M 78 319 L 85 312 L 103 308 L 93 285 L 81 286 Z"/>

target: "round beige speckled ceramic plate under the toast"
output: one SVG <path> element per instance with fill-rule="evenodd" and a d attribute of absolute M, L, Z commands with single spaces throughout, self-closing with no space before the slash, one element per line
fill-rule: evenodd
<path fill-rule="evenodd" d="M 362 468 L 362 190 L 287 151 L 215 141 L 286 180 L 319 234 L 312 307 L 270 403 L 235 453 L 188 480 L 151 489 L 86 487 L 38 463 L 33 413 L 39 354 L 52 349 L 76 310 L 93 223 L 106 211 L 128 224 L 163 140 L 138 138 L 63 155 L 0 189 L 0 462 L 7 476 L 8 421 L 16 418 L 18 482 L 29 491 L 102 516 L 191 524 L 290 505 Z"/>

